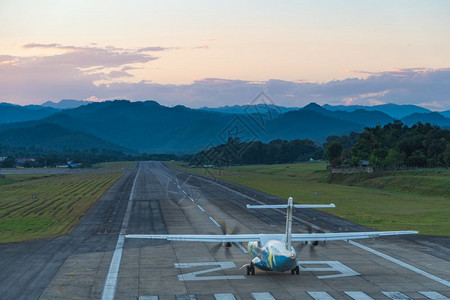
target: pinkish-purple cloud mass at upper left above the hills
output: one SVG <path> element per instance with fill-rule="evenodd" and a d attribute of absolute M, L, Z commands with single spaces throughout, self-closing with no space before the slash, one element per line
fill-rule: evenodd
<path fill-rule="evenodd" d="M 96 82 L 131 78 L 133 75 L 128 71 L 136 69 L 136 65 L 158 59 L 133 49 L 115 47 L 30 43 L 23 48 L 59 49 L 62 53 L 27 57 L 1 55 L 1 101 L 36 103 L 61 96 L 86 98 L 96 94 Z"/>

